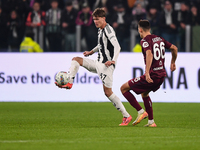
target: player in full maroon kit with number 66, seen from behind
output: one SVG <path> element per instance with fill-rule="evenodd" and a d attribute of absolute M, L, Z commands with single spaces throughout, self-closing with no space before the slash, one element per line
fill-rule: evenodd
<path fill-rule="evenodd" d="M 151 34 L 150 30 L 151 28 L 148 20 L 139 21 L 138 32 L 142 38 L 140 44 L 146 64 L 145 74 L 124 83 L 121 86 L 121 92 L 129 103 L 138 111 L 138 117 L 133 122 L 133 125 L 140 123 L 143 119 L 148 117 L 148 124 L 145 126 L 156 127 L 157 125 L 153 119 L 152 101 L 149 97 L 149 92 L 157 91 L 166 76 L 164 66 L 165 48 L 171 50 L 171 71 L 176 70 L 175 61 L 178 49 L 175 45 L 169 43 L 162 37 Z M 140 106 L 130 90 L 133 90 L 136 94 L 141 94 L 146 111 Z"/>

